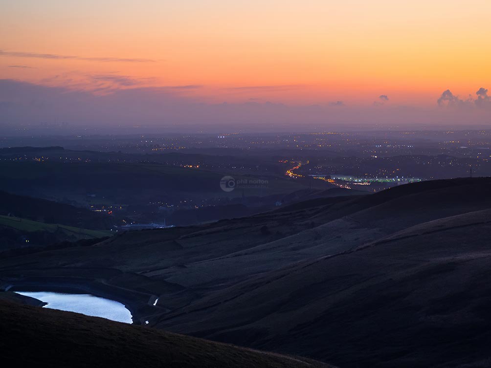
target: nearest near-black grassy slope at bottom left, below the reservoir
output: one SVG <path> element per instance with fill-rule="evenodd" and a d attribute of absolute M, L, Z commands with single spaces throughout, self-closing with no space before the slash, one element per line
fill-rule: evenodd
<path fill-rule="evenodd" d="M 0 301 L 4 367 L 328 368 L 283 356 Z"/>

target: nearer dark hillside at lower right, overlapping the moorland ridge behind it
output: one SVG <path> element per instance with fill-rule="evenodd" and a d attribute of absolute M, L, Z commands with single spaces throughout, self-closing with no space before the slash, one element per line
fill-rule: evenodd
<path fill-rule="evenodd" d="M 340 367 L 489 367 L 491 210 L 446 217 L 211 294 L 162 328 Z"/>

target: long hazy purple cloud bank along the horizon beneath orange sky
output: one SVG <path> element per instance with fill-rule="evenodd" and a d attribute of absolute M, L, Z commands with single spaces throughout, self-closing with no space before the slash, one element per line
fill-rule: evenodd
<path fill-rule="evenodd" d="M 0 79 L 0 131 L 2 127 L 36 124 L 41 121 L 66 121 L 70 126 L 132 127 L 146 124 L 154 127 L 191 126 L 239 129 L 294 129 L 307 127 L 353 126 L 364 124 L 456 124 L 463 121 L 489 123 L 491 109 L 485 115 L 473 110 L 450 110 L 415 106 L 387 105 L 383 109 L 370 105 L 349 105 L 335 101 L 324 105 L 285 105 L 267 101 L 243 103 L 205 103 L 199 96 L 183 94 L 199 85 L 145 87 L 121 76 L 98 75 L 102 83 L 129 84 L 129 88 L 115 88 L 109 93 L 46 86 L 12 79 Z M 101 88 L 104 88 L 105 84 Z M 485 89 L 478 97 L 482 103 L 490 98 Z M 455 96 L 444 92 L 444 98 Z"/>

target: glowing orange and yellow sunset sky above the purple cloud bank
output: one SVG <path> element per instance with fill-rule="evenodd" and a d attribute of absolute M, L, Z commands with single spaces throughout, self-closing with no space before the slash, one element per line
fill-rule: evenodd
<path fill-rule="evenodd" d="M 192 85 L 173 90 L 205 102 L 292 105 L 369 105 L 384 94 L 390 103 L 426 106 L 447 88 L 464 98 L 491 87 L 489 0 L 0 0 L 0 7 L 0 79 L 97 93 Z"/>

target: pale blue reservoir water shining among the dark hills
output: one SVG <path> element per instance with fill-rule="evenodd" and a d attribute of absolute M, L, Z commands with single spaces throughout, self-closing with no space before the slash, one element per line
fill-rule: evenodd
<path fill-rule="evenodd" d="M 117 322 L 133 323 L 130 311 L 123 304 L 114 300 L 99 298 L 90 294 L 65 294 L 50 291 L 15 292 L 48 303 L 44 308 L 77 312 L 83 315 L 103 317 Z"/>

